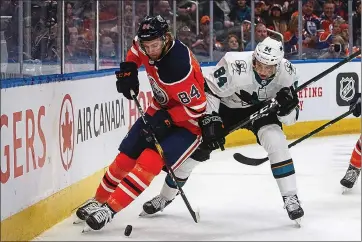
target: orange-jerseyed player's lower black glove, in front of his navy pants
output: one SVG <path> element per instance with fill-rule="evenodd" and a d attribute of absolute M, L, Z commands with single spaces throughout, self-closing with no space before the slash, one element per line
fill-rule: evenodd
<path fill-rule="evenodd" d="M 150 124 L 151 129 L 146 127 L 142 130 L 141 135 L 150 143 L 153 142 L 152 132 L 156 135 L 157 140 L 161 141 L 168 135 L 173 125 L 170 114 L 164 109 L 158 110 L 153 116 L 146 115 L 146 120 Z"/>

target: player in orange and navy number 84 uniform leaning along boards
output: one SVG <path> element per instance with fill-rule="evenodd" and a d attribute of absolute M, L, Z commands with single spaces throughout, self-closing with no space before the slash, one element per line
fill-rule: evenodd
<path fill-rule="evenodd" d="M 115 73 L 117 91 L 129 100 L 133 100 L 131 90 L 138 95 L 141 65 L 153 91 L 145 117 L 152 129 L 141 118 L 135 122 L 94 198 L 78 208 L 78 219 L 85 220 L 93 230 L 102 229 L 117 212 L 132 203 L 161 172 L 164 162 L 179 180 L 177 170 L 201 142 L 202 121 L 212 116 L 204 115 L 206 95 L 199 63 L 187 46 L 173 39 L 160 15 L 141 21 L 126 61 Z M 162 146 L 165 160 L 155 148 L 152 132 Z"/>

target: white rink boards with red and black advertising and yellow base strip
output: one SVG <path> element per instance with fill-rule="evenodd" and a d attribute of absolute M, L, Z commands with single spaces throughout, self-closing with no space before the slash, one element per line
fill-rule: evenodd
<path fill-rule="evenodd" d="M 296 64 L 300 84 L 333 64 Z M 146 108 L 151 88 L 145 72 L 139 76 Z M 352 62 L 301 91 L 299 122 L 284 127 L 287 137 L 346 112 L 341 93 L 360 78 L 360 63 Z M 94 194 L 139 114 L 116 92 L 113 75 L 1 89 L 1 99 L 1 240 L 30 240 Z M 359 132 L 360 119 L 350 116 L 319 135 Z M 248 131 L 227 137 L 228 147 L 254 142 Z"/>

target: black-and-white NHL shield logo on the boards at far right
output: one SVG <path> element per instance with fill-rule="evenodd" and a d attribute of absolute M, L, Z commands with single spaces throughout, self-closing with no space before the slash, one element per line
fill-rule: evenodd
<path fill-rule="evenodd" d="M 358 92 L 358 75 L 355 72 L 339 73 L 336 83 L 336 100 L 339 106 L 349 106 Z"/>

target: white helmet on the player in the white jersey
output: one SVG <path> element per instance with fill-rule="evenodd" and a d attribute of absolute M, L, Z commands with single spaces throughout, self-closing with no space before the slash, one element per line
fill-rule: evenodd
<path fill-rule="evenodd" d="M 265 65 L 279 65 L 284 58 L 282 42 L 266 37 L 255 47 L 253 59 Z"/>

